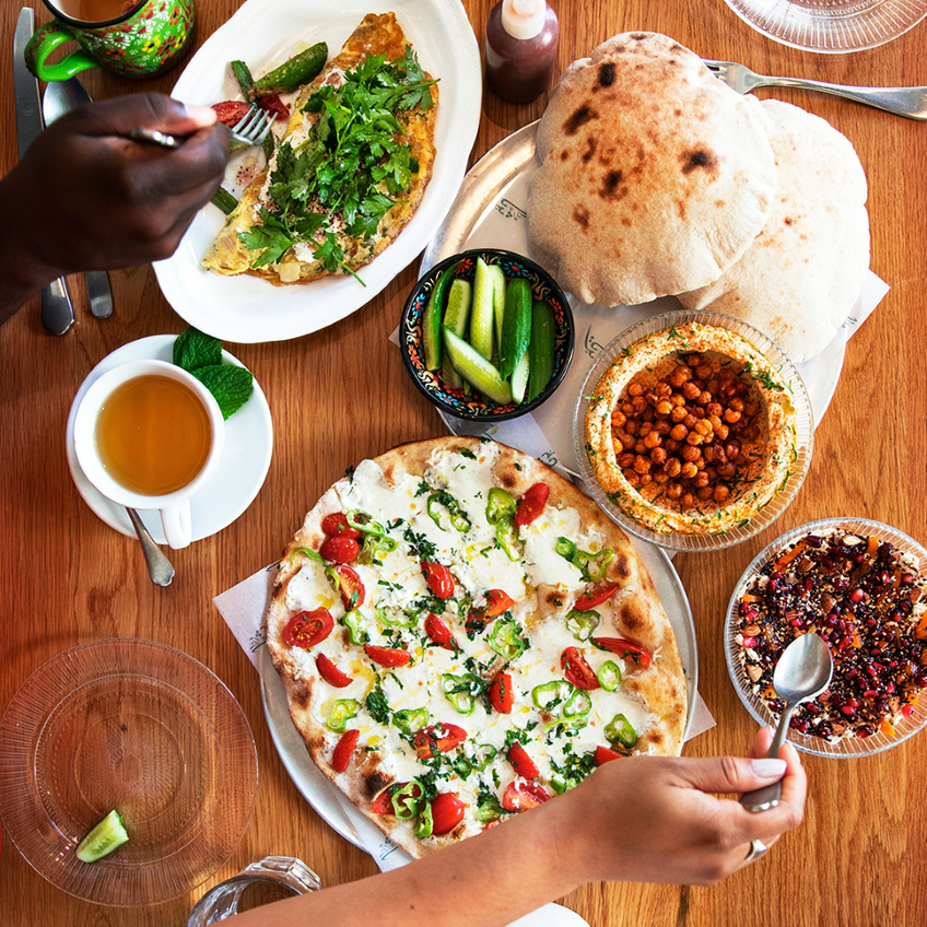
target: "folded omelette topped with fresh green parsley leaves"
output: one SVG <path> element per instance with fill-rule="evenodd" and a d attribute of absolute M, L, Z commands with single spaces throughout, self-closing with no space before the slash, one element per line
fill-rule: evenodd
<path fill-rule="evenodd" d="M 436 82 L 392 13 L 368 13 L 303 86 L 203 266 L 272 284 L 353 273 L 412 218 L 434 167 Z"/>

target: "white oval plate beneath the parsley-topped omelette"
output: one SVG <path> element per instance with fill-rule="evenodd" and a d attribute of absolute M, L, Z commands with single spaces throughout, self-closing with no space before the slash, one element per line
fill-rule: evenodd
<path fill-rule="evenodd" d="M 174 310 L 190 325 L 238 343 L 284 341 L 344 318 L 377 295 L 429 243 L 464 174 L 480 120 L 482 77 L 477 39 L 459 0 L 247 0 L 211 35 L 174 86 L 173 96 L 209 106 L 240 98 L 228 68 L 247 62 L 260 75 L 303 47 L 326 42 L 338 54 L 367 13 L 396 13 L 422 67 L 439 79 L 434 174 L 422 202 L 396 240 L 352 277 L 327 277 L 301 286 L 274 286 L 256 277 L 220 277 L 200 262 L 224 216 L 207 206 L 179 247 L 154 265 Z"/>

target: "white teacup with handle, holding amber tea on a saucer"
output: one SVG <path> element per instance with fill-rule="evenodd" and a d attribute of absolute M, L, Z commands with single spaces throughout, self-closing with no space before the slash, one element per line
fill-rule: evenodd
<path fill-rule="evenodd" d="M 101 459 L 96 425 L 106 401 L 129 380 L 143 376 L 163 376 L 186 386 L 202 404 L 211 427 L 209 450 L 199 471 L 179 489 L 164 494 L 133 491 L 117 479 Z M 165 434 L 165 442 L 174 439 Z M 81 399 L 74 416 L 74 451 L 78 462 L 91 483 L 103 495 L 129 508 L 156 509 L 161 513 L 164 536 L 176 549 L 190 543 L 190 498 L 215 474 L 225 447 L 225 422 L 213 395 L 195 376 L 167 361 L 131 361 L 102 374 Z"/>

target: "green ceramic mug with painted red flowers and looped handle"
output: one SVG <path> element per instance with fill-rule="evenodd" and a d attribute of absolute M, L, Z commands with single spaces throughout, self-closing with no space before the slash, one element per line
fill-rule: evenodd
<path fill-rule="evenodd" d="M 43 81 L 64 81 L 97 64 L 127 78 L 151 78 L 174 67 L 193 37 L 193 0 L 146 0 L 121 16 L 104 23 L 82 23 L 45 5 L 56 19 L 36 30 L 26 46 L 30 71 Z M 48 56 L 66 42 L 80 50 L 47 63 Z"/>

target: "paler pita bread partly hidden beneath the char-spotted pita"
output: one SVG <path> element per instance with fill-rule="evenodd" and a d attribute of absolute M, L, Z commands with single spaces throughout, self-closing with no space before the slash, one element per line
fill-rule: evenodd
<path fill-rule="evenodd" d="M 866 174 L 824 119 L 777 99 L 762 106 L 778 178 L 770 221 L 720 279 L 679 300 L 742 319 L 800 363 L 833 339 L 869 269 Z"/>

